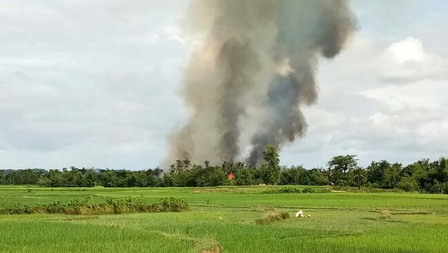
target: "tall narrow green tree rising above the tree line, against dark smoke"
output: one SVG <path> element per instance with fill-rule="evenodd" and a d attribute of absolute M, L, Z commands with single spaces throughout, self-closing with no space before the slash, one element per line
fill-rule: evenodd
<path fill-rule="evenodd" d="M 267 144 L 266 150 L 263 152 L 263 159 L 266 164 L 261 166 L 261 170 L 264 174 L 265 183 L 278 184 L 280 182 L 281 167 L 277 148 L 272 144 Z"/>

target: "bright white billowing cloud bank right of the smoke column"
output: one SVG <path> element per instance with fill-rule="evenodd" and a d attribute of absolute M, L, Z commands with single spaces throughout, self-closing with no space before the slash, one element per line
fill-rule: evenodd
<path fill-rule="evenodd" d="M 447 155 L 446 60 L 409 38 L 381 45 L 357 34 L 334 65 L 321 63 L 320 99 L 305 111 L 309 131 L 285 148 L 282 161 L 323 166 L 352 153 L 367 166 Z"/>

